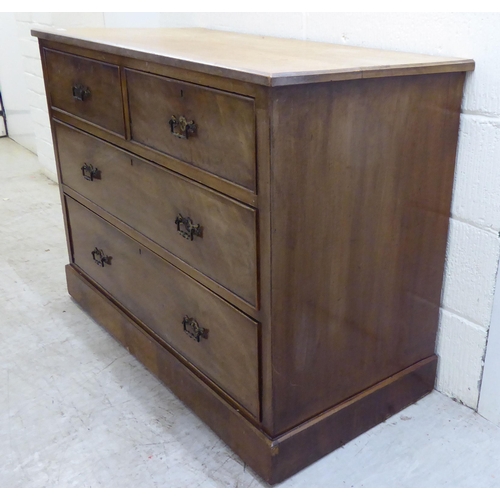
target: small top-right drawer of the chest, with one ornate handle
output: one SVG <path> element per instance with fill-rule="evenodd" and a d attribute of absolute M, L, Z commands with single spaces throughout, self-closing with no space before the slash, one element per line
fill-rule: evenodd
<path fill-rule="evenodd" d="M 125 74 L 132 140 L 255 191 L 253 99 L 139 71 Z M 182 132 L 183 119 L 194 122 L 194 132 Z"/>

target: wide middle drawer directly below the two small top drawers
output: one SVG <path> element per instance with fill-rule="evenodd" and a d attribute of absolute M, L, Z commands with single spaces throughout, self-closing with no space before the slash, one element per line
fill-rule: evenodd
<path fill-rule="evenodd" d="M 256 307 L 255 209 L 66 125 L 54 129 L 63 184 Z M 91 182 L 83 165 L 99 171 Z M 188 218 L 199 228 L 190 231 Z"/>

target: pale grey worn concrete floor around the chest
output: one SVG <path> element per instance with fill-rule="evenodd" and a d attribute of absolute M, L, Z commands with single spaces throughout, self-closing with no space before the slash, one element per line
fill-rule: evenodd
<path fill-rule="evenodd" d="M 57 186 L 0 139 L 0 487 L 263 487 L 70 299 Z M 499 487 L 500 428 L 434 392 L 278 487 Z"/>

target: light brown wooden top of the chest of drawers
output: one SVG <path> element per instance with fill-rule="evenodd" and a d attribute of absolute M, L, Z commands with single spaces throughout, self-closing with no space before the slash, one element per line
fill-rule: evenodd
<path fill-rule="evenodd" d="M 31 33 L 45 40 L 267 86 L 474 69 L 472 59 L 204 28 L 36 29 Z"/>

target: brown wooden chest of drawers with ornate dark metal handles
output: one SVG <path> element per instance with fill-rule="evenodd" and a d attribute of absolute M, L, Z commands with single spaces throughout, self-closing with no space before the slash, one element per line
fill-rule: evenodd
<path fill-rule="evenodd" d="M 73 298 L 270 483 L 430 392 L 466 59 L 34 31 Z"/>

